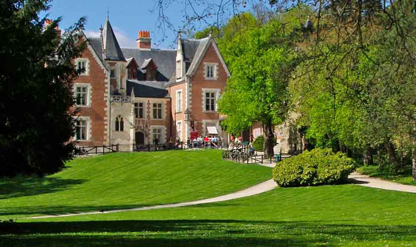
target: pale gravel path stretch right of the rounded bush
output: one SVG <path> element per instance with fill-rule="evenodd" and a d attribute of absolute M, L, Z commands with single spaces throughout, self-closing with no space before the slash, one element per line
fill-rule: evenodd
<path fill-rule="evenodd" d="M 357 172 L 351 173 L 348 178 L 351 182 L 365 187 L 416 193 L 416 186 L 389 182 L 379 178 L 369 177 Z"/>

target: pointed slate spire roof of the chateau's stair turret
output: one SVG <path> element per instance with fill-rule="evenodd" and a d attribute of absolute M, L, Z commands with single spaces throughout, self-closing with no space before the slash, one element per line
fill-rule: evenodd
<path fill-rule="evenodd" d="M 108 19 L 105 19 L 104 23 L 103 44 L 105 50 L 105 60 L 126 61 Z"/>

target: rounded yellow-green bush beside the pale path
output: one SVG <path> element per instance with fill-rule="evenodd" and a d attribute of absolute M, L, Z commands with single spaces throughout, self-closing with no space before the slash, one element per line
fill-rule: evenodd
<path fill-rule="evenodd" d="M 282 187 L 338 184 L 345 181 L 354 168 L 354 161 L 345 154 L 315 148 L 277 163 L 273 179 Z"/>

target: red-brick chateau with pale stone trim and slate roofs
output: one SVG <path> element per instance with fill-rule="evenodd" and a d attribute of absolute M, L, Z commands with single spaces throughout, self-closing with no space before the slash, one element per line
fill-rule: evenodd
<path fill-rule="evenodd" d="M 217 100 L 230 72 L 211 38 L 182 39 L 176 50 L 154 49 L 140 31 L 136 48 L 121 48 L 110 22 L 74 63 L 79 77 L 75 139 L 80 146 L 120 145 L 126 150 L 156 141 L 186 141 L 221 130 Z M 129 145 L 127 145 L 129 144 Z"/>

